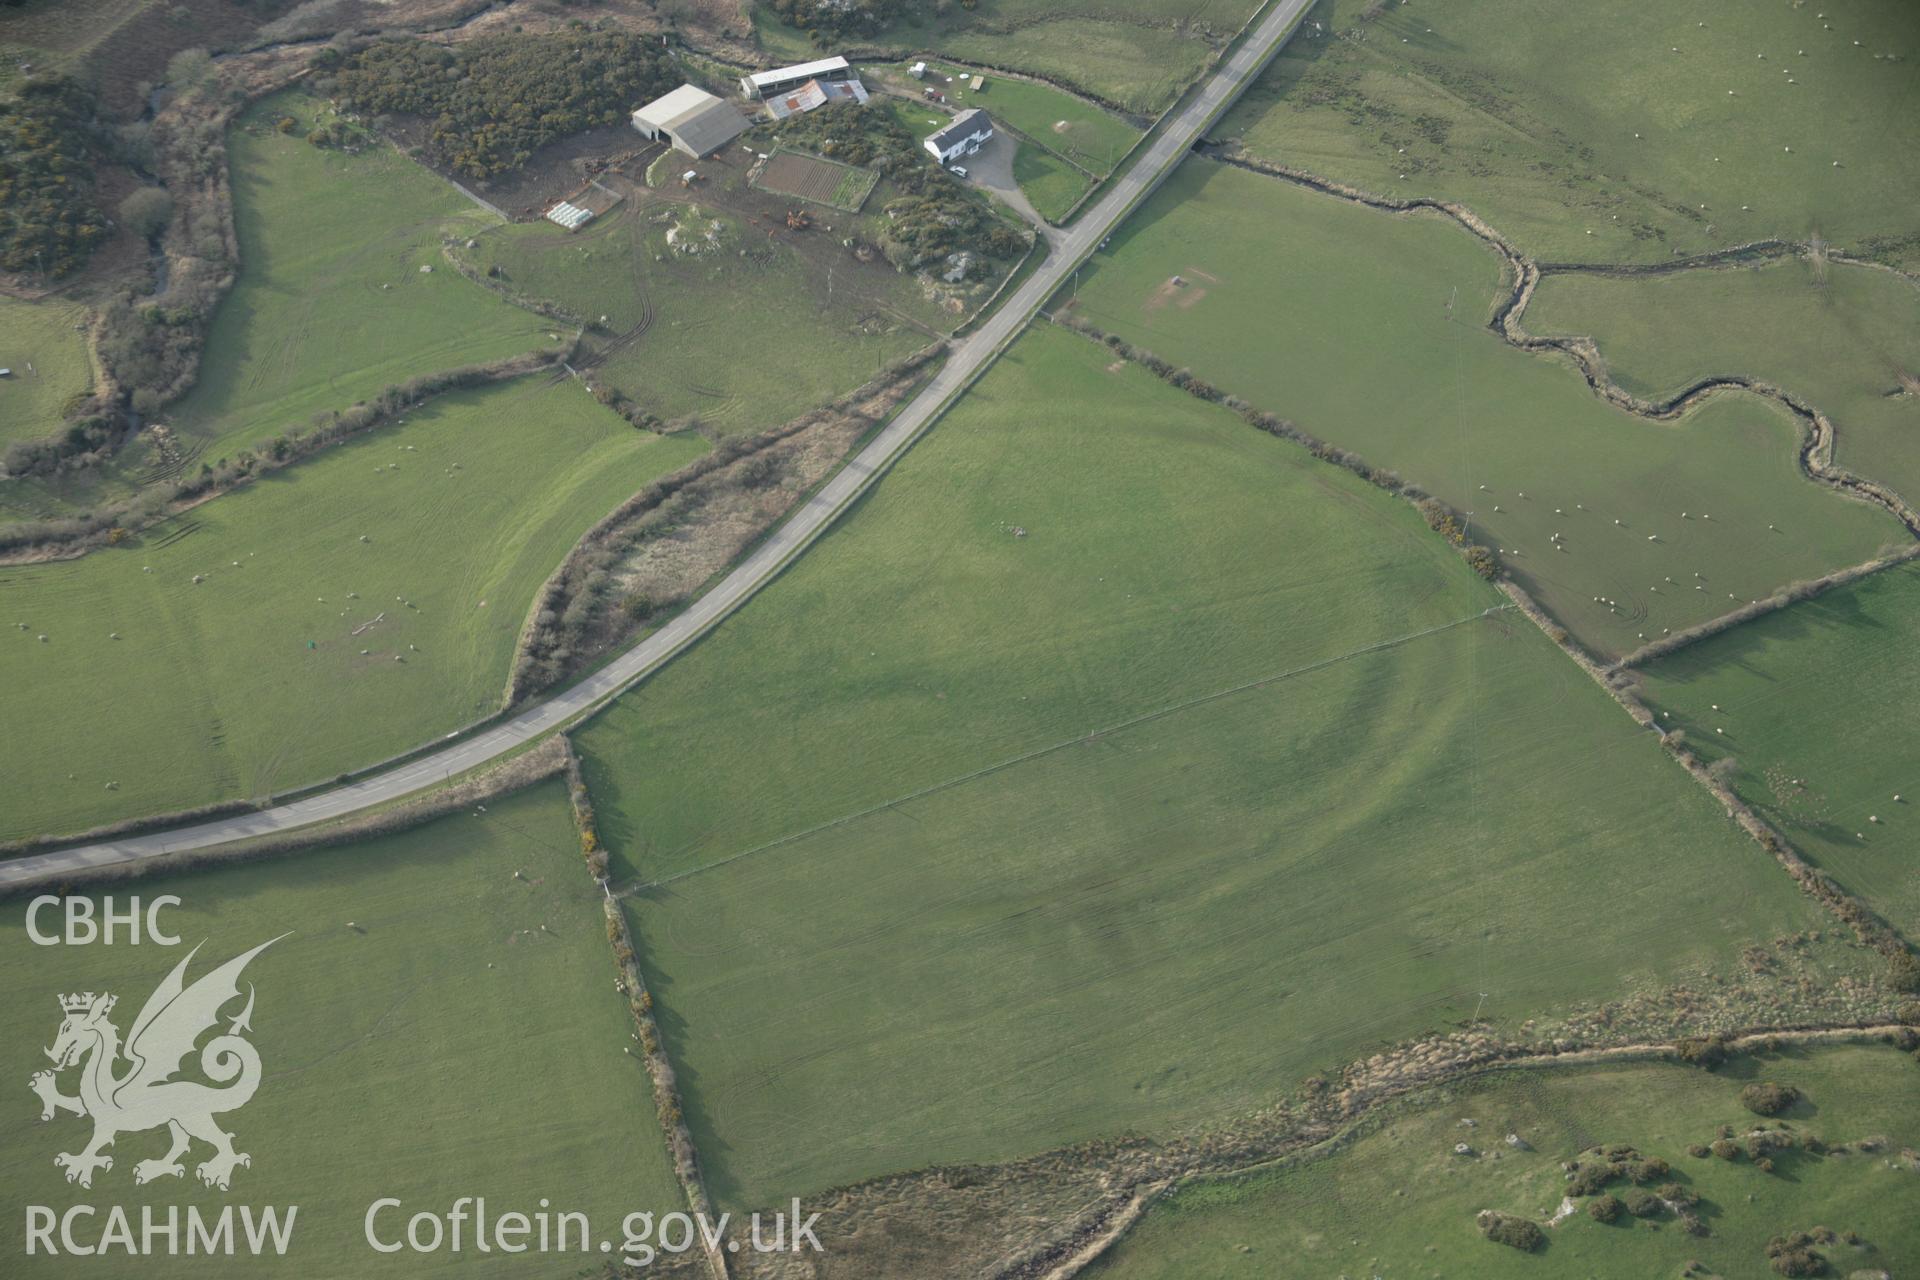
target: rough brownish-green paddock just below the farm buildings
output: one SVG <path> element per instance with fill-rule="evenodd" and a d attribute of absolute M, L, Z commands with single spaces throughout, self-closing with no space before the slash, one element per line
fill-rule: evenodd
<path fill-rule="evenodd" d="M 862 269 L 837 238 L 829 249 L 803 255 L 710 205 L 630 200 L 578 232 L 499 226 L 461 253 L 478 271 L 499 269 L 511 290 L 607 317 L 593 336 L 597 378 L 660 418 L 735 434 L 860 386 L 943 320 L 912 278 L 885 263 Z"/>

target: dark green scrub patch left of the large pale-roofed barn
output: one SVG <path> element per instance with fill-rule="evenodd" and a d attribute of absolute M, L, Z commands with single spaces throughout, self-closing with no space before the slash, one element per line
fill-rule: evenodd
<path fill-rule="evenodd" d="M 313 59 L 321 88 L 365 115 L 426 121 L 428 152 L 470 178 L 516 169 L 566 134 L 618 125 L 680 79 L 674 59 L 624 31 L 480 36 L 459 48 L 380 40 Z"/>

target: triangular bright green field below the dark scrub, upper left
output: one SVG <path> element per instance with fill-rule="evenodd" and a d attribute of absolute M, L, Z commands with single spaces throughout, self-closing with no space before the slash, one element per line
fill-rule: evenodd
<path fill-rule="evenodd" d="M 547 338 L 559 332 L 553 320 L 442 259 L 445 236 L 499 219 L 386 144 L 359 155 L 309 144 L 324 111 L 288 92 L 248 109 L 228 134 L 240 274 L 213 317 L 194 390 L 159 415 L 196 462 L 417 374 L 559 347 Z M 282 115 L 296 121 L 292 134 L 273 129 Z M 19 486 L 0 510 L 84 507 L 171 472 L 142 436 L 106 468 Z"/>

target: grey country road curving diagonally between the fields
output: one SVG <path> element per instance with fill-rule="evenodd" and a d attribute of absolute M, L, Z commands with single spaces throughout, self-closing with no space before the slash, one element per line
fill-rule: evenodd
<path fill-rule="evenodd" d="M 1165 123 L 1079 223 L 1054 232 L 1046 263 L 1021 284 L 1006 303 L 973 334 L 954 344 L 945 367 L 885 430 L 847 462 L 801 510 L 793 512 L 732 574 L 676 616 L 664 628 L 628 649 L 578 685 L 563 689 L 518 716 L 474 733 L 442 750 L 374 773 L 355 783 L 317 793 L 253 814 L 219 818 L 175 831 L 132 835 L 98 844 L 31 854 L 0 862 L 0 887 L 23 885 L 88 867 L 106 867 L 144 858 L 161 858 L 198 848 L 213 848 L 261 835 L 307 827 L 346 818 L 359 810 L 399 800 L 457 773 L 497 760 L 597 710 L 612 697 L 662 666 L 676 652 L 733 612 L 799 555 L 833 518 L 868 487 L 935 418 L 1020 334 L 1041 305 L 1060 288 L 1089 253 L 1152 192 L 1200 138 L 1202 130 L 1252 83 L 1279 52 L 1309 0 L 1279 0 L 1246 35 L 1235 54 L 1208 79 L 1206 86 Z"/>

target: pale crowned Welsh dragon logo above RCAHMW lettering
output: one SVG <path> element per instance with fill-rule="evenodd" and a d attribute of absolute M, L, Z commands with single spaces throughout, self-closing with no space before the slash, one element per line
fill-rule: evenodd
<path fill-rule="evenodd" d="M 282 933 L 280 938 L 284 936 Z M 240 998 L 240 971 L 280 938 L 269 938 L 234 956 L 188 986 L 186 965 L 200 952 L 196 946 L 148 996 L 140 1015 L 132 1019 L 125 1046 L 119 1029 L 108 1021 L 117 996 L 81 992 L 60 998 L 65 1019 L 60 1023 L 54 1048 L 46 1050 L 54 1069 L 36 1073 L 29 1086 L 40 1096 L 42 1121 L 54 1119 L 58 1111 L 94 1121 L 92 1142 L 81 1151 L 54 1157 L 54 1163 L 67 1171 L 67 1182 L 92 1186 L 96 1169 L 113 1169 L 113 1157 L 104 1151 L 119 1134 L 161 1125 L 173 1136 L 173 1146 L 159 1159 L 136 1163 L 134 1182 L 182 1176 L 186 1169 L 180 1157 L 194 1138 L 213 1148 L 213 1155 L 194 1171 L 207 1186 L 225 1192 L 234 1167 L 253 1163 L 246 1151 L 234 1150 L 232 1134 L 213 1123 L 215 1115 L 244 1107 L 259 1088 L 259 1052 L 240 1034 L 252 1031 L 252 983 L 246 1007 L 228 1021 L 223 1034 L 200 1050 L 200 1071 L 221 1088 L 175 1077 L 200 1036 L 219 1027 L 221 1007 Z M 125 1069 L 119 1069 L 121 1059 L 127 1063 Z M 81 1069 L 81 1092 L 75 1098 L 61 1094 L 56 1079 L 67 1067 Z"/>

